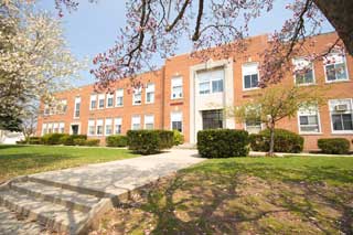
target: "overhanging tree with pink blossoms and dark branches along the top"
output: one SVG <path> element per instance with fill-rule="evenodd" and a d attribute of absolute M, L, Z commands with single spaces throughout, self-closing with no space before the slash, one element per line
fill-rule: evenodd
<path fill-rule="evenodd" d="M 61 14 L 64 7 L 68 10 L 78 7 L 75 0 L 55 0 L 55 4 Z M 246 50 L 240 40 L 247 36 L 249 22 L 269 12 L 274 4 L 274 0 L 129 0 L 127 26 L 120 29 L 113 49 L 94 58 L 97 67 L 92 73 L 103 87 L 119 78 L 135 77 L 147 67 L 153 68 L 152 56 L 172 56 L 182 35 L 193 42 L 193 56 L 203 60 L 232 56 L 234 52 Z M 353 54 L 353 1 L 293 0 L 287 9 L 292 11 L 292 18 L 272 34 L 269 47 L 263 53 L 266 62 L 261 65 L 264 87 L 284 77 L 291 56 L 310 51 L 304 41 L 320 32 L 325 18 L 340 40 L 309 57 L 320 60 L 322 54 L 336 45 L 342 49 L 343 44 Z M 211 49 L 213 45 L 222 45 L 222 50 Z"/>

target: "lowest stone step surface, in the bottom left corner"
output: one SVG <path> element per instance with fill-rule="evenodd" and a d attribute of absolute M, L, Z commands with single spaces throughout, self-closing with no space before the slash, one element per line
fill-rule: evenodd
<path fill-rule="evenodd" d="M 2 235 L 36 235 L 43 227 L 34 222 L 21 220 L 15 213 L 0 206 L 0 234 Z"/>

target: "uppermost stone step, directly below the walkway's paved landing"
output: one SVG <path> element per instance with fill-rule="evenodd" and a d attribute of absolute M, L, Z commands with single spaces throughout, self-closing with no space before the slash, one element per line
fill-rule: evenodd
<path fill-rule="evenodd" d="M 82 194 L 76 191 L 65 190 L 32 181 L 14 182 L 10 189 L 29 194 L 47 202 L 62 204 L 68 209 L 81 212 L 89 212 L 90 209 L 100 201 L 100 197 Z"/>

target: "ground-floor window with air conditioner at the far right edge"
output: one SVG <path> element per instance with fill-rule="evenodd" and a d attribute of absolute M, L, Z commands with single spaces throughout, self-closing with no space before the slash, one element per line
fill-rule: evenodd
<path fill-rule="evenodd" d="M 353 132 L 352 99 L 331 99 L 329 106 L 332 132 Z"/>

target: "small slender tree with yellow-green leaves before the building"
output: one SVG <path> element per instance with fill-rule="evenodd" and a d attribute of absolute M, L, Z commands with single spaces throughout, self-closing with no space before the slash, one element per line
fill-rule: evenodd
<path fill-rule="evenodd" d="M 278 121 L 292 118 L 300 108 L 319 108 L 323 104 L 323 92 L 318 86 L 271 85 L 254 94 L 256 98 L 243 106 L 229 108 L 227 115 L 237 121 L 260 121 L 270 130 L 268 156 L 274 156 L 275 128 Z"/>

